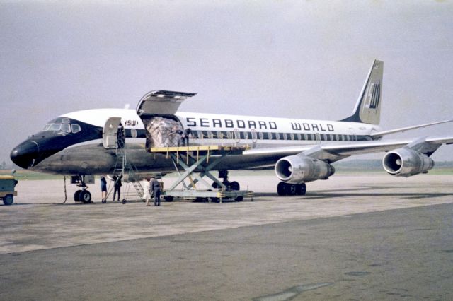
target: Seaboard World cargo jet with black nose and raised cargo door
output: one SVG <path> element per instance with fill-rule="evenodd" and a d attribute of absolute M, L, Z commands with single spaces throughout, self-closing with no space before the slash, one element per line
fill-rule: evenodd
<path fill-rule="evenodd" d="M 384 170 L 396 177 L 426 173 L 434 166 L 430 155 L 442 144 L 453 143 L 453 136 L 382 138 L 453 120 L 382 130 L 383 69 L 383 61 L 374 60 L 352 114 L 339 121 L 178 112 L 180 104 L 195 93 L 153 90 L 142 97 L 136 110 L 82 110 L 52 119 L 13 148 L 11 160 L 28 170 L 79 177 L 82 189 L 74 194 L 74 201 L 84 203 L 91 202 L 84 177 L 115 174 L 118 148 L 127 150 L 127 161 L 139 172 L 174 172 L 166 155 L 149 152 L 156 139 L 165 140 L 162 135 L 168 126 L 190 129 L 190 146 L 248 146 L 241 155 L 228 155 L 215 167 L 219 177 L 228 170 L 274 169 L 280 179 L 279 195 L 304 195 L 307 182 L 334 174 L 332 163 L 364 153 L 386 152 Z M 153 126 L 157 134 L 151 132 Z M 239 190 L 239 183 L 233 186 Z"/>

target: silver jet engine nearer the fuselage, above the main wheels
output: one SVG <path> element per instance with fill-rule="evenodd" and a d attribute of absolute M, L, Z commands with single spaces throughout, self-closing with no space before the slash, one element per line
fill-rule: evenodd
<path fill-rule="evenodd" d="M 328 179 L 335 172 L 332 165 L 306 155 L 289 155 L 275 164 L 275 174 L 282 182 L 300 184 Z"/>

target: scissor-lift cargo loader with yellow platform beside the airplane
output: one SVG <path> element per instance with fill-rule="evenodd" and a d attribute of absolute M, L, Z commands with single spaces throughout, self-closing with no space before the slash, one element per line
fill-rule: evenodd
<path fill-rule="evenodd" d="M 161 153 L 166 158 L 171 158 L 179 177 L 168 188 L 164 189 L 162 196 L 167 201 L 174 197 L 184 199 L 205 199 L 207 201 L 219 201 L 224 199 L 234 199 L 242 201 L 243 198 L 251 198 L 253 201 L 253 191 L 231 190 L 217 177 L 211 174 L 211 170 L 226 157 L 226 155 L 241 155 L 246 151 L 245 146 L 171 146 L 161 148 L 150 148 L 151 153 Z M 185 157 L 185 158 L 184 158 Z M 180 172 L 178 165 L 183 168 Z M 214 189 L 203 179 L 208 177 L 217 184 L 218 189 Z M 185 179 L 189 179 L 189 184 L 185 184 Z M 176 189 L 179 184 L 183 184 L 184 189 Z M 205 189 L 197 189 L 196 184 L 201 183 Z"/>

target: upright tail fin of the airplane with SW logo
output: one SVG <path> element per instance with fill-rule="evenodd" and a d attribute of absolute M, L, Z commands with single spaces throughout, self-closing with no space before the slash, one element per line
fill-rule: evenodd
<path fill-rule="evenodd" d="M 360 97 L 355 104 L 354 112 L 342 122 L 362 122 L 379 124 L 381 119 L 381 90 L 384 62 L 374 60 L 363 85 Z"/>

